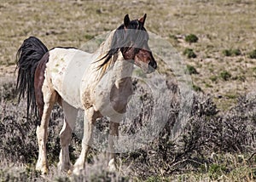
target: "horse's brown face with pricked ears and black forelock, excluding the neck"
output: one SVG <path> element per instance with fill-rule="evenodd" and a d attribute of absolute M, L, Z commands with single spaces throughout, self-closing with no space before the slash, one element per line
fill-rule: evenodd
<path fill-rule="evenodd" d="M 123 46 L 120 48 L 125 60 L 133 60 L 135 65 L 141 67 L 144 72 L 153 72 L 157 64 L 148 47 L 148 32 L 144 28 L 147 14 L 139 20 L 130 20 L 125 15 L 124 24 L 118 30 L 124 30 Z"/>

